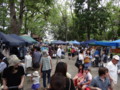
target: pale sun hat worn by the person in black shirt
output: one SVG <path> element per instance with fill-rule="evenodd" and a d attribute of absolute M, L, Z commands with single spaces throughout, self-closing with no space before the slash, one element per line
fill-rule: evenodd
<path fill-rule="evenodd" d="M 20 59 L 16 55 L 11 55 L 8 58 L 9 66 L 14 66 L 20 63 Z"/>

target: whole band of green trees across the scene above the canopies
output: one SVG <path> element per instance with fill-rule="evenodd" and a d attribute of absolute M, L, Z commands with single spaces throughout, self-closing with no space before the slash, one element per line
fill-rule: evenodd
<path fill-rule="evenodd" d="M 0 0 L 0 31 L 58 40 L 120 38 L 119 0 Z"/>

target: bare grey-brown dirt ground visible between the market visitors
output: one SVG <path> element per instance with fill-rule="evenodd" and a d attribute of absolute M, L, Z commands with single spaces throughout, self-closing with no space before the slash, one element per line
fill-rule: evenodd
<path fill-rule="evenodd" d="M 68 72 L 72 75 L 72 78 L 73 78 L 77 74 L 77 68 L 75 67 L 76 57 L 73 60 L 68 60 L 68 57 L 66 56 L 65 59 L 61 59 L 61 61 L 67 63 L 67 65 L 68 65 Z M 52 69 L 51 75 L 55 71 L 56 62 L 57 62 L 56 59 L 52 60 L 53 69 Z M 97 75 L 97 70 L 98 70 L 98 68 L 91 67 L 91 73 L 92 73 L 93 77 Z M 30 70 L 28 72 L 31 73 L 32 71 Z M 43 84 L 42 84 L 42 78 L 40 79 L 40 84 L 41 84 L 40 90 L 44 90 L 43 89 Z M 30 78 L 26 77 L 26 79 L 25 79 L 25 85 L 24 85 L 24 90 L 31 90 L 31 85 L 32 85 L 32 82 L 30 81 Z M 120 75 L 119 75 L 119 78 L 118 78 L 118 84 L 116 86 L 116 90 L 120 90 Z"/>

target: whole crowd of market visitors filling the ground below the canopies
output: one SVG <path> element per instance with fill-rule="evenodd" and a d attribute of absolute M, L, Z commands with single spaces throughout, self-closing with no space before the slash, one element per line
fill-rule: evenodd
<path fill-rule="evenodd" d="M 3 90 L 22 90 L 26 76 L 33 82 L 30 86 L 32 90 L 39 90 L 42 85 L 45 90 L 115 90 L 120 73 L 117 66 L 120 57 L 112 54 L 109 56 L 109 48 L 34 46 L 24 49 L 23 58 L 20 57 L 20 49 L 16 50 L 11 51 L 9 56 L 0 53 L 0 83 Z M 66 53 L 68 58 L 65 58 Z M 54 58 L 57 63 L 55 72 L 51 75 Z M 76 59 L 78 72 L 73 78 L 68 73 L 67 63 L 61 61 L 62 58 Z M 91 67 L 98 67 L 97 76 L 93 77 Z M 27 72 L 29 68 L 32 69 L 31 74 Z M 43 84 L 40 84 L 41 78 Z"/>

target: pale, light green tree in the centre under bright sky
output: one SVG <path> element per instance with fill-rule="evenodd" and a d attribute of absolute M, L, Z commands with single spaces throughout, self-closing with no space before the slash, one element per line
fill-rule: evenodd
<path fill-rule="evenodd" d="M 71 15 L 67 11 L 69 3 L 66 1 L 65 5 L 57 3 L 51 10 L 49 22 L 51 23 L 51 32 L 54 38 L 60 40 L 69 40 L 69 27 L 71 24 Z"/>

